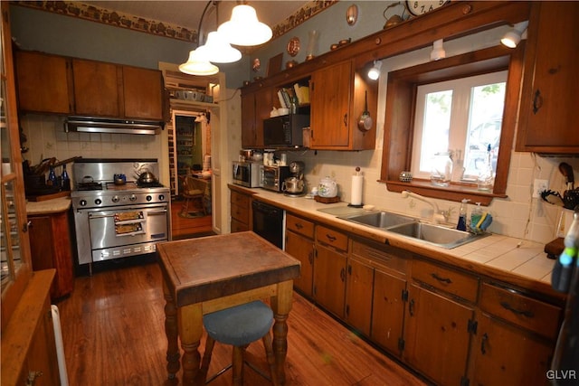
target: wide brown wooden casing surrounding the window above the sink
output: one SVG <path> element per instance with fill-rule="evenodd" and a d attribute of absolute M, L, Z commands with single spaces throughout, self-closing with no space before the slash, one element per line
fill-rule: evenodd
<path fill-rule="evenodd" d="M 430 61 L 388 73 L 384 118 L 384 146 L 379 182 L 390 192 L 412 190 L 426 197 L 460 202 L 470 199 L 489 205 L 495 197 L 507 197 L 508 168 L 515 140 L 520 85 L 523 77 L 525 43 L 516 49 L 502 45 L 467 52 L 441 61 Z M 498 152 L 497 175 L 491 193 L 477 190 L 476 184 L 453 182 L 450 186 L 434 186 L 428 180 L 399 180 L 403 171 L 410 170 L 413 152 L 414 111 L 419 85 L 442 80 L 465 78 L 489 72 L 508 70 L 505 108 Z"/>

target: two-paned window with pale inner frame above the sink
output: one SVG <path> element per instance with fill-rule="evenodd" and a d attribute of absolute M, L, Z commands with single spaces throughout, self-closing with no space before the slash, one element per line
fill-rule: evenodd
<path fill-rule="evenodd" d="M 451 182 L 496 173 L 507 71 L 418 86 L 412 172 L 429 179 L 433 159 L 451 154 Z M 489 147 L 490 146 L 490 147 Z"/>

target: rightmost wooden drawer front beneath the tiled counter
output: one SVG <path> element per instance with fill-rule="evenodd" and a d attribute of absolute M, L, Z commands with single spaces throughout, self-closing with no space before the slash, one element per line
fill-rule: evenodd
<path fill-rule="evenodd" d="M 482 285 L 480 309 L 552 339 L 562 314 L 561 307 L 488 283 Z"/>

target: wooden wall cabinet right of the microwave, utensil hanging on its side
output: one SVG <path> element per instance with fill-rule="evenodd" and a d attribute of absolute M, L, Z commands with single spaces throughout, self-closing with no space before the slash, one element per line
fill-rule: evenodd
<path fill-rule="evenodd" d="M 375 123 L 357 127 L 365 110 L 375 117 L 377 82 L 370 83 L 343 61 L 314 71 L 310 83 L 310 147 L 320 150 L 365 150 L 375 147 Z"/>

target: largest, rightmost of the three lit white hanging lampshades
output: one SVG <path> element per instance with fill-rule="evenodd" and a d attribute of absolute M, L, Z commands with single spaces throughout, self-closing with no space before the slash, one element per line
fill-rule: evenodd
<path fill-rule="evenodd" d="M 267 24 L 257 19 L 255 9 L 250 5 L 235 5 L 232 18 L 217 28 L 227 42 L 235 45 L 259 45 L 271 39 L 273 33 Z"/>

